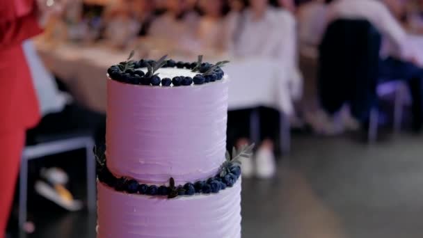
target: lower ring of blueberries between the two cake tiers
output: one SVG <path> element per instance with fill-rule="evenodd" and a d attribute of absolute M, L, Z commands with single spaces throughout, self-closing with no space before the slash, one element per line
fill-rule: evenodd
<path fill-rule="evenodd" d="M 170 178 L 170 186 L 157 186 L 141 184 L 138 181 L 129 177 L 115 177 L 107 168 L 106 163 L 97 163 L 98 180 L 107 184 L 115 191 L 125 191 L 132 194 L 143 194 L 147 196 L 168 196 L 168 198 L 175 198 L 177 196 L 193 196 L 195 194 L 209 194 L 218 193 L 227 187 L 232 187 L 237 182 L 241 175 L 241 167 L 238 164 L 227 163 L 225 170 L 230 173 L 225 175 L 219 173 L 208 180 L 197 181 L 194 183 L 188 182 L 184 185 L 175 187 L 175 181 Z"/>

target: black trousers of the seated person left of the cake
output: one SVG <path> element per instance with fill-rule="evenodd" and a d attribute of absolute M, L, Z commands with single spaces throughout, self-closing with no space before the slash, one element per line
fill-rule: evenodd
<path fill-rule="evenodd" d="M 36 143 L 34 138 L 42 135 L 74 134 L 86 132 L 93 134 L 96 144 L 104 144 L 106 135 L 106 115 L 91 111 L 77 103 L 67 104 L 57 113 L 42 117 L 37 127 L 26 134 L 28 143 Z"/>

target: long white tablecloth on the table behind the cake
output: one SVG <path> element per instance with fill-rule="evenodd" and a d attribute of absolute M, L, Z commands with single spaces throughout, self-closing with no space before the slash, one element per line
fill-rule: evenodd
<path fill-rule="evenodd" d="M 125 61 L 127 54 L 106 47 L 79 47 L 62 44 L 49 47 L 38 43 L 38 52 L 47 68 L 60 77 L 72 94 L 96 111 L 106 111 L 106 70 Z M 195 58 L 190 59 L 195 61 Z M 270 58 L 233 60 L 224 71 L 230 76 L 229 109 L 270 106 L 292 113 L 292 84 L 281 65 Z"/>

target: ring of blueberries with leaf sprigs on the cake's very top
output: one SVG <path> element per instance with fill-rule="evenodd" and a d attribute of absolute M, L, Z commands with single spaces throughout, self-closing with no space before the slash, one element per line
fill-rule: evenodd
<path fill-rule="evenodd" d="M 141 68 L 147 68 L 148 65 L 154 65 L 157 63 L 152 60 L 141 59 L 141 61 L 134 61 L 134 65 L 131 68 L 123 68 L 122 65 L 125 65 L 126 62 L 120 63 L 120 65 L 112 65 L 107 73 L 110 78 L 115 81 L 120 81 L 126 84 L 136 84 L 136 85 L 146 85 L 146 86 L 163 86 L 168 87 L 171 84 L 173 86 L 190 86 L 191 84 L 200 85 L 207 84 L 209 82 L 217 81 L 223 79 L 225 74 L 221 67 L 218 65 L 213 65 L 211 63 L 201 63 L 200 67 L 196 70 L 200 74 L 195 75 L 195 77 L 183 77 L 177 76 L 170 78 L 159 77 L 159 74 L 154 74 L 147 77 L 147 74 L 141 70 Z M 188 70 L 194 70 L 197 67 L 197 62 L 189 63 L 178 61 L 175 62 L 171 59 L 164 61 L 161 68 L 186 68 Z M 213 68 L 213 69 L 212 69 Z M 212 72 L 209 72 L 212 69 Z"/>

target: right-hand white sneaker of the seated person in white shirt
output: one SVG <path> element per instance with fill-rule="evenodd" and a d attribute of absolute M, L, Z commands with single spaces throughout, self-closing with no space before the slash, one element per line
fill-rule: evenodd
<path fill-rule="evenodd" d="M 255 161 L 257 163 L 257 177 L 270 178 L 276 173 L 276 161 L 273 151 L 267 148 L 260 148 L 255 154 Z"/>

